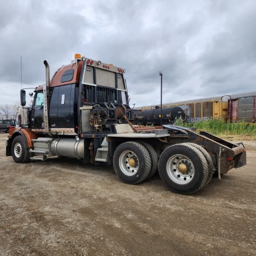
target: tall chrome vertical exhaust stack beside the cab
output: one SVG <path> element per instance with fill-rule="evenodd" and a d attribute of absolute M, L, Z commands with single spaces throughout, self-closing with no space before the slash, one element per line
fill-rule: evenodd
<path fill-rule="evenodd" d="M 50 67 L 46 60 L 45 66 L 45 84 L 43 86 L 44 92 L 44 133 L 49 133 L 49 86 L 50 86 Z"/>

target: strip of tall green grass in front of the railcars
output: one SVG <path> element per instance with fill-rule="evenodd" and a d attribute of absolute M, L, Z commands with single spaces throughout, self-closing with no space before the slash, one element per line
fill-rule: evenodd
<path fill-rule="evenodd" d="M 226 123 L 219 119 L 209 119 L 195 123 L 186 123 L 182 120 L 182 118 L 177 118 L 174 125 L 187 128 L 194 127 L 197 128 L 197 132 L 206 131 L 213 134 L 256 136 L 256 123 Z"/>

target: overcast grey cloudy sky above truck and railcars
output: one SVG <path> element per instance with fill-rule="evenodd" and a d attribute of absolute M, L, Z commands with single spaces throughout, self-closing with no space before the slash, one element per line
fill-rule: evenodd
<path fill-rule="evenodd" d="M 255 0 L 3 0 L 0 104 L 74 53 L 126 69 L 136 106 L 256 90 Z"/>

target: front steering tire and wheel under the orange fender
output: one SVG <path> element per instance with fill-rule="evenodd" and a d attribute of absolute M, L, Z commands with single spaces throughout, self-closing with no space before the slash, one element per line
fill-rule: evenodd
<path fill-rule="evenodd" d="M 13 139 L 11 144 L 11 155 L 15 162 L 30 162 L 29 149 L 26 148 L 25 141 L 21 136 L 17 136 Z"/>

